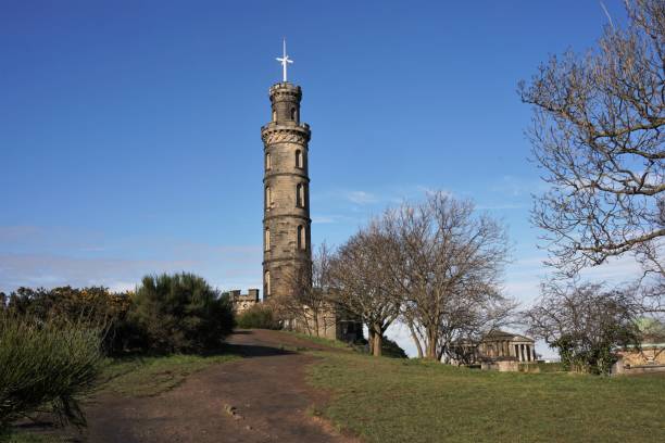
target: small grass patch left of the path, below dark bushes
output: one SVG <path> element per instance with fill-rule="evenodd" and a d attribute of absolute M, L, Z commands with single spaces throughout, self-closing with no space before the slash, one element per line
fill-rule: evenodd
<path fill-rule="evenodd" d="M 210 365 L 239 358 L 234 354 L 175 354 L 109 360 L 98 392 L 125 396 L 158 395 L 180 384 L 187 376 Z"/>

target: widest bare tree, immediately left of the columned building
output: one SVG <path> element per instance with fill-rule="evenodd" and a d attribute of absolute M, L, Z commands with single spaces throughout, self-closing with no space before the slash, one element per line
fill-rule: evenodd
<path fill-rule="evenodd" d="M 392 239 L 389 275 L 419 355 L 441 359 L 461 338 L 506 320 L 514 304 L 500 291 L 507 261 L 501 224 L 443 192 L 389 211 L 382 223 Z"/>

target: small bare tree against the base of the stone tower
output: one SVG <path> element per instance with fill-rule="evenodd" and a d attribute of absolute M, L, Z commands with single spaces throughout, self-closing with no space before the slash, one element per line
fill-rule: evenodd
<path fill-rule="evenodd" d="M 292 289 L 271 299 L 277 318 L 310 336 L 325 336 L 335 322 L 330 291 L 330 249 L 322 243 L 312 257 L 312 265 L 294 267 L 285 276 Z"/>

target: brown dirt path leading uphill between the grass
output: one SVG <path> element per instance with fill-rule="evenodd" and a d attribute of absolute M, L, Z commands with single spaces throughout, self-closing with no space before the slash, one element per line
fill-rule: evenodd
<path fill-rule="evenodd" d="M 304 381 L 304 367 L 314 357 L 284 350 L 322 346 L 266 330 L 238 331 L 228 342 L 246 358 L 206 368 L 154 397 L 104 396 L 88 405 L 85 441 L 355 441 L 308 414 L 324 400 Z"/>

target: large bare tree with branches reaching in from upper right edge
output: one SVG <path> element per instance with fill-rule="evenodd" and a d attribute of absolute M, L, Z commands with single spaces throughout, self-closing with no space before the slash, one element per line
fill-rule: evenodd
<path fill-rule="evenodd" d="M 585 56 L 552 56 L 520 83 L 532 155 L 551 189 L 535 198 L 550 264 L 573 276 L 632 254 L 665 287 L 665 7 L 627 1 Z"/>

